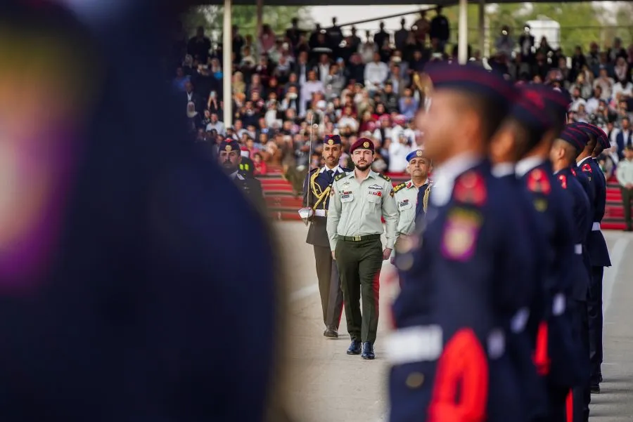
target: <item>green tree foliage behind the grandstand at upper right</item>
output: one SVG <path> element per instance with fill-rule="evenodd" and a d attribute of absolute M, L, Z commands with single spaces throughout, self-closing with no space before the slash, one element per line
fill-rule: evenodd
<path fill-rule="evenodd" d="M 632 11 L 632 13 L 627 15 L 627 25 L 630 27 L 633 7 L 627 6 Z M 593 41 L 599 44 L 604 44 L 608 41 L 608 44 L 610 44 L 613 38 L 606 38 L 606 30 L 603 29 L 604 24 L 601 20 L 604 15 L 603 9 L 601 6 L 594 6 L 592 3 L 497 4 L 493 8 L 494 11 L 489 8 L 486 13 L 490 28 L 488 41 L 492 52 L 494 52 L 494 40 L 501 33 L 501 27 L 508 25 L 511 28 L 513 38 L 517 40 L 523 31 L 525 22 L 543 17 L 556 20 L 561 25 L 561 39 L 559 42 L 565 54 L 573 53 L 573 49 L 577 45 L 582 46 L 583 50 L 587 51 L 589 44 Z M 468 44 L 471 44 L 474 48 L 478 47 L 480 39 L 478 10 L 478 5 L 468 6 Z M 451 22 L 452 41 L 456 41 L 459 9 L 457 7 L 447 8 L 445 15 Z M 536 41 L 538 44 L 540 40 L 537 39 Z"/>

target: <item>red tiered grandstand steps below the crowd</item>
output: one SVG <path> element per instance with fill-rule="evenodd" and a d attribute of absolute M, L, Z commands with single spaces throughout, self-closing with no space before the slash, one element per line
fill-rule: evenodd
<path fill-rule="evenodd" d="M 302 197 L 295 197 L 293 187 L 281 174 L 274 173 L 259 176 L 264 197 L 272 218 L 276 220 L 300 220 L 297 211 L 302 206 Z M 391 175 L 394 185 L 409 180 L 407 175 Z M 624 209 L 620 187 L 615 178 L 609 180 L 607 187 L 606 213 L 602 220 L 603 229 L 622 230 L 625 228 Z"/>

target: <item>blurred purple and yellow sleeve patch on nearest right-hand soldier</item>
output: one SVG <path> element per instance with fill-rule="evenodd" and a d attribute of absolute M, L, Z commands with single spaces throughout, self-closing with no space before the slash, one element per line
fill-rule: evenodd
<path fill-rule="evenodd" d="M 468 261 L 475 253 L 482 218 L 476 211 L 456 208 L 450 211 L 442 235 L 442 255 L 456 261 Z"/>

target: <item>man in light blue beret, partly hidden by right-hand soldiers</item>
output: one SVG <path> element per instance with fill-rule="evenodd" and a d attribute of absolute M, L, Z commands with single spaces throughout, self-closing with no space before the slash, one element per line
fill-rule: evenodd
<path fill-rule="evenodd" d="M 409 152 L 407 161 L 409 161 L 408 169 L 411 180 L 400 183 L 393 188 L 398 207 L 395 253 L 397 253 L 399 246 L 403 246 L 404 249 L 409 247 L 407 237 L 416 230 L 416 220 L 426 213 L 430 194 L 428 173 L 433 168 L 430 159 L 424 157 L 422 150 L 415 150 Z"/>

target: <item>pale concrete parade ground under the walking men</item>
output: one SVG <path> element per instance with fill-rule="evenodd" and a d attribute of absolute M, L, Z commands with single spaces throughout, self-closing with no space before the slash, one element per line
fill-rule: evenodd
<path fill-rule="evenodd" d="M 322 336 L 321 304 L 316 287 L 312 246 L 305 244 L 303 223 L 276 223 L 290 297 L 288 360 L 290 412 L 302 422 L 383 422 L 388 365 L 381 338 L 388 331 L 388 310 L 397 287 L 394 269 L 385 261 L 381 273 L 381 319 L 376 360 L 347 356 L 350 343 L 341 320 L 338 340 Z M 633 235 L 605 232 L 613 267 L 605 272 L 605 364 L 602 393 L 592 395 L 591 421 L 633 421 Z"/>

